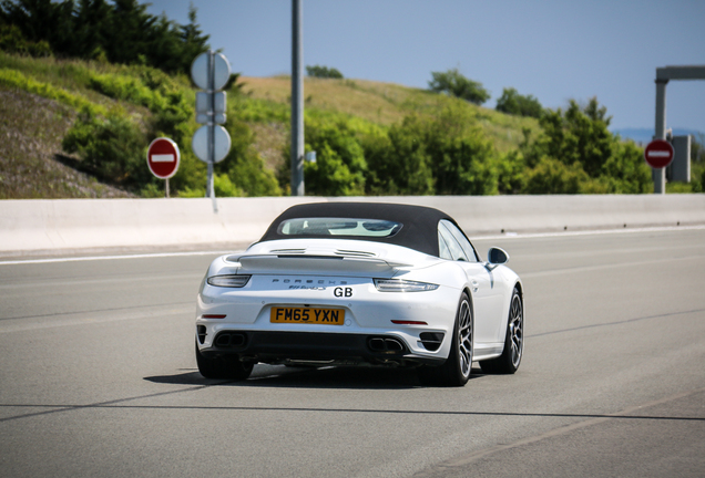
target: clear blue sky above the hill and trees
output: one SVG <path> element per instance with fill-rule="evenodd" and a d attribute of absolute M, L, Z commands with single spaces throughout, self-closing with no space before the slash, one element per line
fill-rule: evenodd
<path fill-rule="evenodd" d="M 546 107 L 597 96 L 614 128 L 654 127 L 657 66 L 705 65 L 705 1 L 302 0 L 304 64 L 427 87 L 458 67 L 493 107 L 504 87 Z M 290 72 L 290 0 L 192 0 L 235 72 Z M 190 0 L 149 11 L 187 22 Z M 667 86 L 667 126 L 705 132 L 705 80 Z"/>

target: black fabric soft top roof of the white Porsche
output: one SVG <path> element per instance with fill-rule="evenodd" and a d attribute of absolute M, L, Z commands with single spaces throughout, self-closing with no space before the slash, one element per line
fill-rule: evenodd
<path fill-rule="evenodd" d="M 385 202 L 314 202 L 292 206 L 282 212 L 282 215 L 272 222 L 265 235 L 262 237 L 260 242 L 278 239 L 293 239 L 292 236 L 284 236 L 277 232 L 279 224 L 286 219 L 310 217 L 384 219 L 401 222 L 401 230 L 392 237 L 362 238 L 336 236 L 336 238 L 392 243 L 436 257 L 439 254 L 438 222 L 441 219 L 447 219 L 456 224 L 456 221 L 446 212 L 423 206 Z M 296 239 L 307 237 L 319 238 L 320 236 L 296 236 Z"/>

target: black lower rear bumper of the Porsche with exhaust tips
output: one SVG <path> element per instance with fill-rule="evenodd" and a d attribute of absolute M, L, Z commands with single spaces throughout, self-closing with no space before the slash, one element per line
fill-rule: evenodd
<path fill-rule="evenodd" d="M 329 362 L 331 364 L 438 365 L 445 358 L 412 353 L 394 334 L 305 333 L 280 331 L 224 330 L 211 346 L 201 347 L 205 356 L 238 355 L 241 360 L 264 363 Z"/>

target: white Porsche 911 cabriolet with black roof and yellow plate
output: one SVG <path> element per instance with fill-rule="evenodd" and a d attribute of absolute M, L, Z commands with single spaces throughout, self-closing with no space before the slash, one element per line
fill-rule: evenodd
<path fill-rule="evenodd" d="M 421 206 L 318 202 L 277 217 L 201 284 L 196 362 L 207 378 L 254 364 L 417 367 L 462 386 L 472 362 L 512 374 L 523 353 L 523 288 L 491 248 L 482 261 L 448 215 Z"/>

